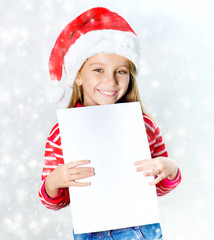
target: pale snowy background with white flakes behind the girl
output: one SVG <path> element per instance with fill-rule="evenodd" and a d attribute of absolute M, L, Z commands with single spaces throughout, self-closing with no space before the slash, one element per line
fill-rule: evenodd
<path fill-rule="evenodd" d="M 164 239 L 213 238 L 211 3 L 0 0 L 0 239 L 72 239 L 69 208 L 48 210 L 37 194 L 45 140 L 67 104 L 51 102 L 48 58 L 64 26 L 95 6 L 118 12 L 140 37 L 142 100 L 182 170 L 182 184 L 159 199 Z"/>

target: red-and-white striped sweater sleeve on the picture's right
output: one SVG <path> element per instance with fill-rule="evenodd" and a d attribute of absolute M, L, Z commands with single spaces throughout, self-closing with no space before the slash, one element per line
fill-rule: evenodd
<path fill-rule="evenodd" d="M 144 115 L 144 122 L 146 126 L 146 132 L 149 141 L 149 147 L 151 152 L 151 157 L 168 157 L 168 152 L 163 141 L 159 127 L 149 118 Z M 164 196 L 167 193 L 175 189 L 181 182 L 181 172 L 178 169 L 177 176 L 174 180 L 170 181 L 167 178 L 163 179 L 161 182 L 156 184 L 156 191 L 158 196 Z"/>

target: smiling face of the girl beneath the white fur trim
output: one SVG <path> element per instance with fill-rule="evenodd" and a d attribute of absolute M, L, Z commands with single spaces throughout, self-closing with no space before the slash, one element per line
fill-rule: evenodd
<path fill-rule="evenodd" d="M 114 104 L 128 89 L 129 60 L 116 54 L 97 54 L 85 62 L 75 82 L 82 85 L 85 106 Z"/>

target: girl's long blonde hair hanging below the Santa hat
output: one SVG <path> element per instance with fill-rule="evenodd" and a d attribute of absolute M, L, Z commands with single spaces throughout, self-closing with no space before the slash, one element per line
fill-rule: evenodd
<path fill-rule="evenodd" d="M 81 69 L 79 70 L 79 72 L 81 71 Z M 129 81 L 129 86 L 126 91 L 126 94 L 116 103 L 140 102 L 142 113 L 147 114 L 140 99 L 140 94 L 139 94 L 137 80 L 136 80 L 136 72 L 137 72 L 136 67 L 131 61 L 129 61 L 129 72 L 130 72 L 130 81 Z M 76 107 L 77 103 L 81 103 L 83 105 L 83 102 L 84 102 L 84 99 L 83 99 L 82 86 L 79 86 L 76 82 L 74 82 L 73 92 L 68 104 L 68 108 Z"/>

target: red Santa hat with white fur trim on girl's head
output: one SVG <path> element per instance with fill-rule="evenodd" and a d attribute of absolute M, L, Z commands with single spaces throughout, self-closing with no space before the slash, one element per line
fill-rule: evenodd
<path fill-rule="evenodd" d="M 49 59 L 51 79 L 61 80 L 64 64 L 72 87 L 86 59 L 98 53 L 124 56 L 138 68 L 140 49 L 136 33 L 124 18 L 101 7 L 82 13 L 62 30 Z"/>

